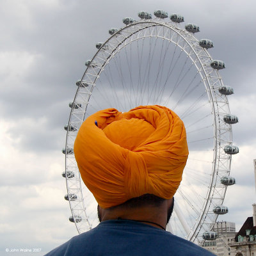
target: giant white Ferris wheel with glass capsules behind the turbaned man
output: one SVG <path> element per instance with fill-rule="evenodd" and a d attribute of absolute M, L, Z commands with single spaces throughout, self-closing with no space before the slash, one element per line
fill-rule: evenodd
<path fill-rule="evenodd" d="M 69 104 L 65 177 L 72 216 L 79 233 L 95 227 L 97 202 L 84 186 L 74 157 L 74 140 L 87 116 L 106 108 L 129 111 L 139 105 L 166 106 L 183 120 L 187 131 L 189 157 L 182 182 L 175 194 L 175 207 L 167 230 L 190 241 L 216 239 L 212 231 L 223 206 L 227 186 L 236 183 L 230 176 L 232 124 L 228 95 L 219 70 L 225 63 L 214 60 L 208 49 L 211 40 L 198 40 L 199 27 L 180 26 L 184 17 L 157 10 L 156 18 L 140 12 L 140 20 L 123 20 L 125 26 L 109 29 L 106 42 L 96 44 L 97 52 L 87 60 L 86 70 L 74 101 Z"/>

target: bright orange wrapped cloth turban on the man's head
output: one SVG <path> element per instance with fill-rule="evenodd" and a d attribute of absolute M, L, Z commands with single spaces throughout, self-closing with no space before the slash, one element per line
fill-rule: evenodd
<path fill-rule="evenodd" d="M 163 106 L 89 116 L 74 143 L 84 184 L 102 208 L 144 194 L 170 199 L 188 158 L 182 120 Z"/>

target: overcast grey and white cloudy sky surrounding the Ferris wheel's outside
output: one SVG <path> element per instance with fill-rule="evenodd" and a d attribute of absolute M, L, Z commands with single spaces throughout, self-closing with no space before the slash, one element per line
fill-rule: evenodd
<path fill-rule="evenodd" d="M 121 4 L 122 3 L 122 4 Z M 230 212 L 218 220 L 234 221 L 237 230 L 252 216 L 255 200 L 256 53 L 255 1 L 74 1 L 2 0 L 0 2 L 0 254 L 6 248 L 42 248 L 49 252 L 77 234 L 68 221 L 63 126 L 68 102 L 84 61 L 104 42 L 109 28 L 124 26 L 124 17 L 138 20 L 138 11 L 161 9 L 184 15 L 200 26 L 199 38 L 214 41 L 211 55 L 225 61 L 225 84 L 234 88 L 230 111 L 232 158 L 237 184 L 228 188 Z M 43 255 L 44 253 L 36 255 Z M 20 255 L 27 255 L 21 253 Z"/>

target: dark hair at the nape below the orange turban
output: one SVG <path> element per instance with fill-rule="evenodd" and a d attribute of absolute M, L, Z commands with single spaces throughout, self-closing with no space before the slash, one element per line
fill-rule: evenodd
<path fill-rule="evenodd" d="M 141 207 L 141 206 L 157 207 L 157 206 L 163 204 L 164 200 L 165 200 L 164 198 L 161 198 L 156 195 L 144 194 L 142 196 L 131 198 L 131 199 L 127 200 L 126 202 L 124 202 L 123 204 L 110 207 L 109 209 L 116 209 L 119 207 L 122 207 L 122 208 L 125 207 L 125 208 L 131 209 L 131 208 L 136 208 L 136 207 Z"/>

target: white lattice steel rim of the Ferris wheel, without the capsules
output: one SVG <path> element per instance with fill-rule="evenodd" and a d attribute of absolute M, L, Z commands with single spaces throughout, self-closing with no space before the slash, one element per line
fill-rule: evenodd
<path fill-rule="evenodd" d="M 145 29 L 152 29 L 152 35 L 143 35 Z M 161 34 L 160 30 L 166 29 L 166 31 L 170 32 L 171 35 L 175 34 L 173 38 L 176 42 L 173 42 L 173 38 L 168 38 L 166 31 Z M 165 35 L 164 35 L 165 33 Z M 186 223 L 185 218 L 182 218 L 182 213 L 179 211 L 179 206 L 175 207 L 175 212 L 179 212 L 177 214 L 181 226 L 184 228 L 186 232 L 186 239 L 191 241 L 195 241 L 196 237 L 202 230 L 209 230 L 211 225 L 216 221 L 218 217 L 216 214 L 211 212 L 211 207 L 215 205 L 221 205 L 223 203 L 225 197 L 225 191 L 227 186 L 221 186 L 218 184 L 218 180 L 223 175 L 229 175 L 230 172 L 230 161 L 231 157 L 227 154 L 223 154 L 221 151 L 227 143 L 232 144 L 232 130 L 230 125 L 222 124 L 220 122 L 220 116 L 224 114 L 229 114 L 229 106 L 227 102 L 227 97 L 220 95 L 217 92 L 220 86 L 223 86 L 222 79 L 217 70 L 213 70 L 209 65 L 210 61 L 212 61 L 209 53 L 202 49 L 198 45 L 198 40 L 188 31 L 184 29 L 178 28 L 173 22 L 163 22 L 162 19 L 154 19 L 154 20 L 141 20 L 139 22 L 134 22 L 124 28 L 118 30 L 114 35 L 110 36 L 110 38 L 102 45 L 102 47 L 97 51 L 95 56 L 93 56 L 91 65 L 86 68 L 84 72 L 82 80 L 86 81 L 90 86 L 90 90 L 88 88 L 84 88 L 83 86 L 79 86 L 77 89 L 76 96 L 74 98 L 74 102 L 83 102 L 83 106 L 75 109 L 74 106 L 70 112 L 70 118 L 68 120 L 68 125 L 71 127 L 75 125 L 79 127 L 84 120 L 84 116 L 86 114 L 86 109 L 88 104 L 90 104 L 90 97 L 92 95 L 93 88 L 95 87 L 95 83 L 97 79 L 99 79 L 101 72 L 104 70 L 106 65 L 108 65 L 109 61 L 120 51 L 123 51 L 123 48 L 136 40 L 141 40 L 146 37 L 158 37 L 163 38 L 164 40 L 169 40 L 173 44 L 176 44 L 181 51 L 184 51 L 188 54 L 189 59 L 195 65 L 198 73 L 202 78 L 202 82 L 204 83 L 205 90 L 207 91 L 207 95 L 209 97 L 209 101 L 212 106 L 212 116 L 213 116 L 213 126 L 214 126 L 214 159 L 212 161 L 212 176 L 209 182 L 209 189 L 207 191 L 207 195 L 205 195 L 205 202 L 200 211 L 198 219 L 195 220 L 194 225 L 188 225 Z M 177 40 L 177 38 L 179 40 Z M 104 45 L 108 45 L 108 49 L 104 48 Z M 200 54 L 198 54 L 200 52 Z M 80 99 L 79 99 L 80 97 Z M 79 99 L 79 100 L 77 100 Z M 224 110 L 224 112 L 220 112 Z M 225 138 L 220 136 L 221 132 L 226 131 Z M 67 141 L 66 141 L 66 149 L 68 147 L 72 148 L 72 144 L 74 143 L 74 138 L 76 138 L 76 132 L 67 131 Z M 221 168 L 220 168 L 221 166 Z M 225 166 L 225 167 L 223 167 Z M 84 205 L 83 189 L 81 185 L 81 180 L 79 177 L 79 171 L 76 166 L 76 161 L 74 159 L 74 155 L 67 154 L 66 151 L 66 173 L 68 171 L 76 172 L 76 182 L 72 179 L 67 180 L 67 191 L 68 194 L 76 193 L 79 194 L 80 201 L 76 202 L 74 200 L 69 200 L 70 209 L 72 211 L 72 216 L 83 216 L 83 221 L 76 222 L 76 227 L 78 232 L 83 232 L 92 228 L 92 224 L 88 218 L 88 214 L 86 213 L 86 206 Z M 77 175 L 78 174 L 78 175 Z M 72 180 L 72 181 L 71 181 Z M 214 201 L 215 200 L 215 201 Z M 218 203 L 217 203 L 218 201 Z M 179 202 L 178 202 L 179 204 Z M 211 216 L 211 218 L 209 218 Z M 207 229 L 205 227 L 207 227 Z"/>

